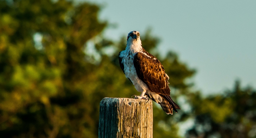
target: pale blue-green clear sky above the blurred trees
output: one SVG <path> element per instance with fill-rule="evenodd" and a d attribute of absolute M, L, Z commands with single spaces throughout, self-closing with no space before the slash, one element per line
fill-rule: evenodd
<path fill-rule="evenodd" d="M 133 30 L 143 36 L 151 27 L 160 52 L 175 51 L 197 69 L 193 81 L 204 94 L 231 89 L 236 79 L 256 88 L 256 1 L 86 1 L 117 25 L 105 31 L 108 38 Z"/>

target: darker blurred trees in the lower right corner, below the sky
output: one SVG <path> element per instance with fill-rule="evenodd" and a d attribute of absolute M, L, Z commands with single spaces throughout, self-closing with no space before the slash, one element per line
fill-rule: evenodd
<path fill-rule="evenodd" d="M 202 98 L 192 96 L 195 126 L 187 137 L 254 138 L 256 137 L 256 91 L 242 89 L 236 81 L 234 90 L 225 95 Z"/>

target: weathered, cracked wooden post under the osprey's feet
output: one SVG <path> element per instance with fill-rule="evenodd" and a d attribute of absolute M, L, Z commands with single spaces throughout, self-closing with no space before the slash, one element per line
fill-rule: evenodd
<path fill-rule="evenodd" d="M 152 138 L 151 100 L 103 98 L 100 102 L 99 138 Z"/>

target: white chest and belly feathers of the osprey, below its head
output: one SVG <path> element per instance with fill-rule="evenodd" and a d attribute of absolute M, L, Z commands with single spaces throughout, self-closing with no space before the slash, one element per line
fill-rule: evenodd
<path fill-rule="evenodd" d="M 136 53 L 132 53 L 130 50 L 122 51 L 120 57 L 122 57 L 122 63 L 124 64 L 124 74 L 131 80 L 132 84 L 135 86 L 135 89 L 139 92 L 143 90 L 148 90 L 148 86 L 139 79 L 136 69 L 133 65 L 133 58 Z"/>

